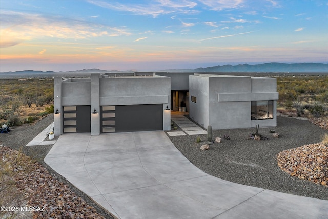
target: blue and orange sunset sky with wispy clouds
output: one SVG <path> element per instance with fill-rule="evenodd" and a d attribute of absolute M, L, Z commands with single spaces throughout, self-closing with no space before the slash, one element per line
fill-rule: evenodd
<path fill-rule="evenodd" d="M 326 0 L 0 0 L 0 72 L 328 63 Z"/>

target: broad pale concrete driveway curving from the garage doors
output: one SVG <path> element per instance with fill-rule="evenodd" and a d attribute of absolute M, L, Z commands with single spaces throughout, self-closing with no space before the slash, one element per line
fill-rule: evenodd
<path fill-rule="evenodd" d="M 63 134 L 45 162 L 117 218 L 328 215 L 328 201 L 231 183 L 202 172 L 163 131 Z"/>

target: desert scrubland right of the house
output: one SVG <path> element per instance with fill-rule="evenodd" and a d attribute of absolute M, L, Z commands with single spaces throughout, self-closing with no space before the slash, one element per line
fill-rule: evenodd
<path fill-rule="evenodd" d="M 277 77 L 277 111 L 302 117 L 326 117 L 328 75 Z"/>

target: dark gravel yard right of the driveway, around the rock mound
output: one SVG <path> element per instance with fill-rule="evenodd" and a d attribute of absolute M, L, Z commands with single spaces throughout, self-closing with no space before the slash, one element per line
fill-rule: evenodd
<path fill-rule="evenodd" d="M 272 137 L 269 129 L 280 133 L 279 138 Z M 277 117 L 277 127 L 259 128 L 259 134 L 269 137 L 269 140 L 249 139 L 254 132 L 255 128 L 214 130 L 213 139 L 221 137 L 222 143 L 214 143 L 204 151 L 200 146 L 206 144 L 206 135 L 199 135 L 200 143 L 196 143 L 197 135 L 169 138 L 195 166 L 223 180 L 328 200 L 327 187 L 292 177 L 277 165 L 280 151 L 321 142 L 321 136 L 327 130 L 308 120 Z M 223 139 L 224 134 L 228 134 L 231 140 Z"/>

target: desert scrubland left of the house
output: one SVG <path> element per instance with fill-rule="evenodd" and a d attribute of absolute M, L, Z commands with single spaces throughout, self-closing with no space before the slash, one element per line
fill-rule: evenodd
<path fill-rule="evenodd" d="M 53 112 L 53 79 L 1 79 L 0 125 L 33 123 Z"/>

